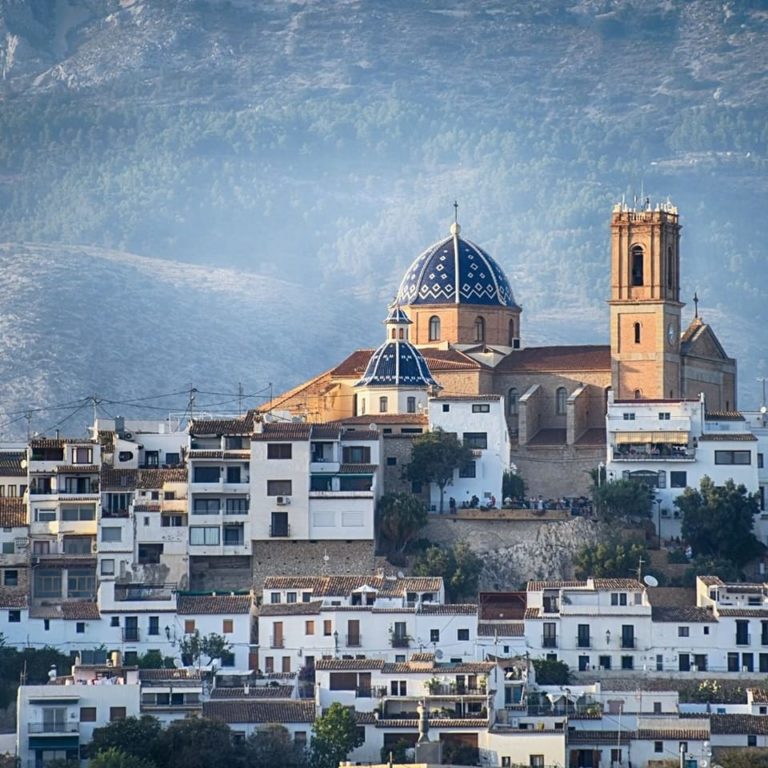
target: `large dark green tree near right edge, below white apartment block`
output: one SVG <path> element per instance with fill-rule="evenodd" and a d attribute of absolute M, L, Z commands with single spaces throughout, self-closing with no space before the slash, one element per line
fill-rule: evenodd
<path fill-rule="evenodd" d="M 695 556 L 730 560 L 739 567 L 758 557 L 765 547 L 752 527 L 760 509 L 757 494 L 727 480 L 715 485 L 703 477 L 699 488 L 686 488 L 675 499 L 682 513 L 682 536 Z"/>

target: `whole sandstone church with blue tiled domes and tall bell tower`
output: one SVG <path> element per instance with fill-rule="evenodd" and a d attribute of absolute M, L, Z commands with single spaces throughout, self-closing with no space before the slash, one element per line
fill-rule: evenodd
<path fill-rule="evenodd" d="M 353 351 L 267 407 L 308 422 L 375 424 L 386 436 L 395 425 L 410 425 L 395 431 L 411 434 L 426 428 L 428 396 L 498 395 L 511 462 L 529 493 L 584 494 L 589 471 L 605 457 L 609 390 L 617 401 L 680 401 L 703 393 L 708 411 L 736 409 L 736 361 L 699 316 L 698 304 L 684 324 L 680 231 L 671 203 L 615 205 L 609 343 L 528 347 L 507 276 L 464 237 L 455 216 L 448 236 L 403 276 L 384 344 Z"/>

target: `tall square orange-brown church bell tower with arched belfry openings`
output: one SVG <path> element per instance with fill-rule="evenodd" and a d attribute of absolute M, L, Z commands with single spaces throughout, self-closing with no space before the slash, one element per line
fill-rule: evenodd
<path fill-rule="evenodd" d="M 671 203 L 611 216 L 611 383 L 617 400 L 677 399 L 680 224 Z"/>

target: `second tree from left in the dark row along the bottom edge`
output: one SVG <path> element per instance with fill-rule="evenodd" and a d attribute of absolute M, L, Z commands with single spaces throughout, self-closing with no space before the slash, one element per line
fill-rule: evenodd
<path fill-rule="evenodd" d="M 162 745 L 168 768 L 234 768 L 243 757 L 229 726 L 205 717 L 174 720 L 163 731 Z"/>

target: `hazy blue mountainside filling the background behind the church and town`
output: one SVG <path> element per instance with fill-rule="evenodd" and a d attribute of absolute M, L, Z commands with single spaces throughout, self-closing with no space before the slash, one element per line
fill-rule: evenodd
<path fill-rule="evenodd" d="M 0 404 L 127 398 L 147 376 L 286 388 L 378 343 L 454 199 L 509 274 L 524 343 L 604 343 L 611 205 L 650 195 L 680 208 L 683 294 L 755 407 L 767 32 L 757 0 L 4 0 L 0 240 L 45 247 L 3 254 L 4 346 L 25 353 Z M 197 284 L 168 299 L 168 273 L 126 254 Z M 239 292 L 254 280 L 282 286 L 273 303 Z M 116 282 L 135 307 L 119 322 Z"/>

